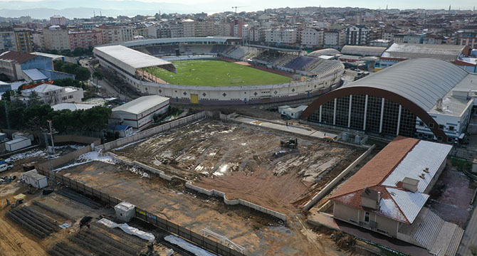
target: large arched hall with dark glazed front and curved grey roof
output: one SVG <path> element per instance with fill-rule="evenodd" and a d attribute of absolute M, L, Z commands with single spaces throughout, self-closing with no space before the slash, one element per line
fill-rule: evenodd
<path fill-rule="evenodd" d="M 406 60 L 319 97 L 301 118 L 383 137 L 456 142 L 470 121 L 477 75 L 444 60 Z"/>

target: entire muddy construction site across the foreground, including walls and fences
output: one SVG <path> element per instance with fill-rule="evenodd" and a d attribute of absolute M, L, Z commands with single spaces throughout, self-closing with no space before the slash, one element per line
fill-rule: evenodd
<path fill-rule="evenodd" d="M 302 124 L 204 111 L 105 144 L 76 140 L 49 161 L 38 149 L 11 156 L 15 167 L 8 175 L 19 182 L 0 185 L 0 224 L 7 227 L 0 230 L 0 254 L 392 252 L 365 242 L 377 239 L 368 239 L 369 233 L 327 224 L 333 221 L 330 195 L 386 145 L 339 139 Z M 25 184 L 25 166 L 35 166 L 48 186 Z M 459 193 L 450 189 L 433 193 L 429 208 L 465 228 L 473 187 L 465 176 L 446 171 L 437 188 L 444 179 L 462 184 L 462 210 L 449 211 Z M 120 205 L 131 206 L 129 219 L 119 214 Z M 127 233 L 131 229 L 136 231 Z M 365 240 L 355 238 L 360 236 Z M 428 255 L 423 248 L 403 248 Z"/>

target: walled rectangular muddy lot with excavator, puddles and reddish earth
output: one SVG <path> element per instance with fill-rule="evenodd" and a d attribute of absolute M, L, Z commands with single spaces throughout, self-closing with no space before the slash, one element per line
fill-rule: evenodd
<path fill-rule="evenodd" d="M 298 149 L 280 142 L 298 139 Z M 319 139 L 206 120 L 118 150 L 119 156 L 274 210 L 300 205 L 362 149 Z M 323 182 L 322 182 L 323 181 Z"/>

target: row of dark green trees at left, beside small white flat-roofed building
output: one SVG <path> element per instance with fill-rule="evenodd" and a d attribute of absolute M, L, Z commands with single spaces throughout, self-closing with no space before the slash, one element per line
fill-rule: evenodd
<path fill-rule="evenodd" d="M 54 111 L 41 102 L 30 102 L 28 107 L 20 102 L 0 100 L 0 127 L 7 127 L 5 102 L 9 109 L 11 129 L 28 129 L 33 131 L 46 128 L 46 120 L 53 120 L 56 130 L 62 134 L 81 131 L 100 131 L 105 129 L 111 109 L 93 107 L 89 110 Z"/>

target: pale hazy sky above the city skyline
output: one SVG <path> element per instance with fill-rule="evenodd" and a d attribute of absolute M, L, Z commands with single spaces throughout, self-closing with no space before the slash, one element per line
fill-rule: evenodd
<path fill-rule="evenodd" d="M 11 16 L 23 14 L 30 15 L 35 18 L 41 14 L 35 9 L 53 9 L 64 10 L 71 8 L 83 8 L 84 11 L 93 12 L 95 10 L 103 10 L 103 14 L 108 16 L 135 14 L 151 15 L 158 11 L 162 13 L 215 13 L 222 11 L 234 11 L 232 6 L 239 6 L 237 11 L 258 11 L 266 8 L 283 8 L 283 7 L 305 7 L 305 6 L 322 6 L 322 7 L 362 7 L 369 9 L 385 9 L 388 5 L 389 9 L 473 9 L 477 6 L 476 0 L 0 0 L 0 16 Z M 16 10 L 9 12 L 8 10 Z M 78 12 L 78 16 L 83 16 L 85 12 Z M 60 12 L 58 12 L 60 13 Z M 45 14 L 46 15 L 46 14 Z M 49 15 L 49 14 L 48 14 Z M 66 12 L 66 15 L 75 16 L 73 12 Z M 66 16 L 65 15 L 65 16 Z M 72 17 L 68 17 L 72 18 Z"/>

